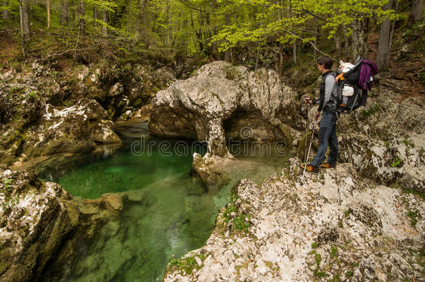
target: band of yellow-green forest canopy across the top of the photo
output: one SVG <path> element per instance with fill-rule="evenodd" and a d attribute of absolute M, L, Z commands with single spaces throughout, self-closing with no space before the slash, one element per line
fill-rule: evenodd
<path fill-rule="evenodd" d="M 395 17 L 388 1 L 2 0 L 0 9 L 1 24 L 20 24 L 20 5 L 28 3 L 31 29 L 60 33 L 76 52 L 78 41 L 86 38 L 106 40 L 122 52 L 163 47 L 215 58 L 226 58 L 233 48 L 260 50 L 272 44 L 281 53 L 293 45 L 296 59 L 299 45 L 325 54 L 318 40 L 344 42 L 352 57 L 367 52 L 370 22 L 379 25 Z"/>

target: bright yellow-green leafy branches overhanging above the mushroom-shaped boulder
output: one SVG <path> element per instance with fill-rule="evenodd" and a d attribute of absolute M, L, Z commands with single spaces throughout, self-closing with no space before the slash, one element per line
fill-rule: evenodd
<path fill-rule="evenodd" d="M 328 31 L 328 38 L 332 38 L 341 26 L 348 27 L 347 36 L 350 36 L 350 24 L 360 17 L 373 18 L 378 23 L 385 17 L 394 17 L 394 10 L 383 10 L 386 0 L 227 2 L 228 6 L 220 7 L 219 13 L 226 15 L 229 13 L 228 9 L 235 10 L 235 6 L 238 6 L 239 13 L 232 15 L 231 20 L 212 37 L 212 41 L 218 42 L 222 51 L 251 42 L 261 47 L 270 38 L 283 44 L 292 43 L 295 39 L 302 40 L 303 43 L 314 42 L 315 21 L 319 29 Z M 236 20 L 237 16 L 239 20 Z"/>

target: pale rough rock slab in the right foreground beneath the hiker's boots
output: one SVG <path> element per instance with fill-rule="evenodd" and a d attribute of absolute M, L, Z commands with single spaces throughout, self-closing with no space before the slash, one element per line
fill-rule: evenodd
<path fill-rule="evenodd" d="M 351 164 L 301 183 L 299 163 L 261 186 L 241 180 L 206 245 L 169 265 L 164 281 L 424 278 L 422 199 L 362 179 Z"/>

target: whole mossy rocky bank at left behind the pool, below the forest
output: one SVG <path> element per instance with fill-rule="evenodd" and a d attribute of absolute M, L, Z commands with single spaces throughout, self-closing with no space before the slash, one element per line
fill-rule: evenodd
<path fill-rule="evenodd" d="M 173 80 L 169 68 L 138 64 L 64 70 L 34 62 L 20 72 L 1 72 L 0 163 L 120 143 L 112 121 L 146 114 L 141 108 Z"/>

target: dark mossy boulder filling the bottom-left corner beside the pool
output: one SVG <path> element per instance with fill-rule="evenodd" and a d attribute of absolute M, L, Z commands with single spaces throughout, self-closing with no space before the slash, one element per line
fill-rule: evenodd
<path fill-rule="evenodd" d="M 77 204 L 31 171 L 6 170 L 0 177 L 0 280 L 36 281 L 77 226 Z"/>

